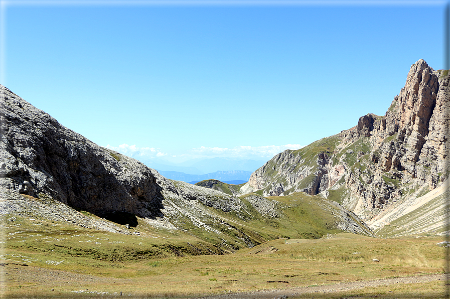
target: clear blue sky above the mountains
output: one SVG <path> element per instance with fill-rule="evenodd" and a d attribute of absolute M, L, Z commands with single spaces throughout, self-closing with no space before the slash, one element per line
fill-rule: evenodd
<path fill-rule="evenodd" d="M 2 1 L 0 83 L 125 154 L 269 159 L 444 68 L 443 1 L 72 3 Z"/>

